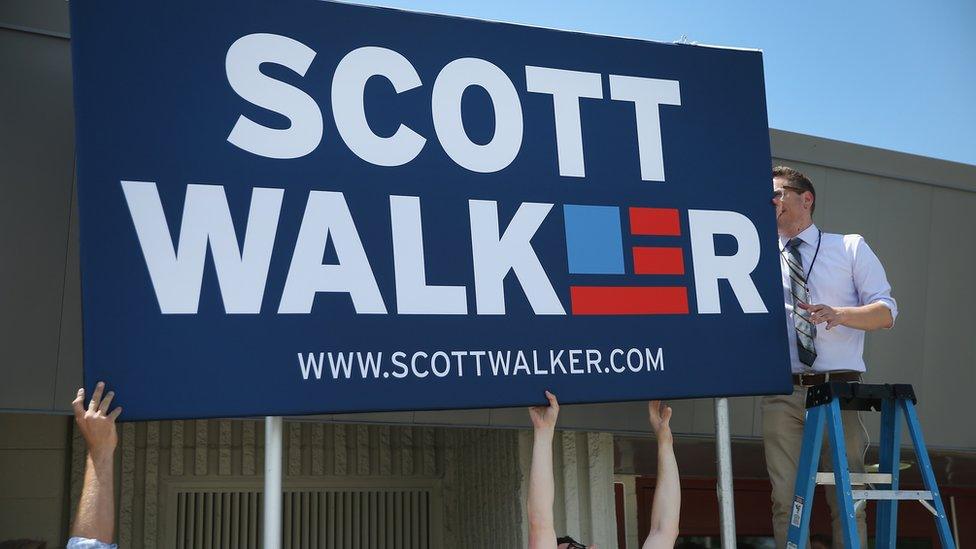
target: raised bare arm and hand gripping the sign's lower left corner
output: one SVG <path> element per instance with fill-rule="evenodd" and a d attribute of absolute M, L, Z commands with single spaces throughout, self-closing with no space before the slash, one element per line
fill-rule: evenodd
<path fill-rule="evenodd" d="M 115 494 L 113 487 L 113 467 L 118 435 L 115 418 L 122 408 L 111 412 L 108 407 L 115 396 L 111 391 L 102 398 L 105 384 L 95 386 L 88 408 L 83 408 L 85 390 L 78 389 L 78 396 L 71 403 L 75 421 L 85 437 L 88 458 L 85 462 L 85 481 L 78 502 L 78 514 L 71 527 L 71 536 L 97 539 L 112 543 L 115 536 Z"/>

